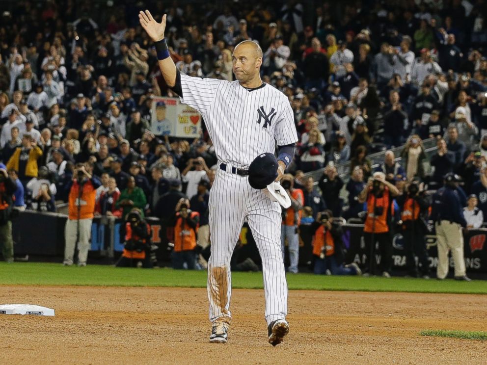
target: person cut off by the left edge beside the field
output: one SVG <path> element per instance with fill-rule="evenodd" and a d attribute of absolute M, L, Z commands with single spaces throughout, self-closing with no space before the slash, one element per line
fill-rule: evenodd
<path fill-rule="evenodd" d="M 0 163 L 0 246 L 3 260 L 14 261 L 14 242 L 12 238 L 13 194 L 17 186 L 8 177 L 7 169 Z"/>

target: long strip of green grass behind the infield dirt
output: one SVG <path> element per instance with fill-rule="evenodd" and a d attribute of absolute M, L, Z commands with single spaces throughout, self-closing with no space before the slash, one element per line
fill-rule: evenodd
<path fill-rule="evenodd" d="M 288 274 L 290 289 L 405 291 L 487 294 L 486 281 L 362 278 Z M 119 268 L 108 265 L 62 266 L 60 263 L 0 262 L 0 285 L 79 285 L 125 287 L 206 287 L 206 271 Z M 262 273 L 232 273 L 235 288 L 262 288 Z"/>

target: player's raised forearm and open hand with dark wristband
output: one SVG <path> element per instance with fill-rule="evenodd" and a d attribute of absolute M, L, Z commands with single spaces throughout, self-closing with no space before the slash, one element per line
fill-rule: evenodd
<path fill-rule="evenodd" d="M 157 59 L 162 77 L 169 87 L 176 84 L 176 65 L 169 56 L 166 41 L 164 39 L 164 30 L 166 28 L 166 15 L 162 16 L 162 22 L 154 20 L 149 10 L 140 11 L 138 14 L 140 25 L 145 29 L 149 37 L 154 41 L 157 51 Z"/>

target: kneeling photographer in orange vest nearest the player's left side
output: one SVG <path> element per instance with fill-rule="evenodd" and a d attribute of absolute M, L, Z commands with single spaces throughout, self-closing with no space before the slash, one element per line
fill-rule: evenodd
<path fill-rule="evenodd" d="M 174 225 L 174 251 L 172 252 L 172 267 L 189 270 L 196 268 L 196 234 L 199 227 L 199 213 L 189 209 L 189 200 L 181 198 L 176 206 Z"/>

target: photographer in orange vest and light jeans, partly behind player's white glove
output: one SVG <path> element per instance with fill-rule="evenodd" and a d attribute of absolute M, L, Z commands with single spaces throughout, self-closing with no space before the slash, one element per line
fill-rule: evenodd
<path fill-rule="evenodd" d="M 284 174 L 281 180 L 282 187 L 286 190 L 291 199 L 291 207 L 282 212 L 281 226 L 281 251 L 284 260 L 285 241 L 287 239 L 289 249 L 289 272 L 298 273 L 299 260 L 299 237 L 298 226 L 304 205 L 304 194 L 301 189 L 294 188 L 294 178 L 291 174 Z"/>

